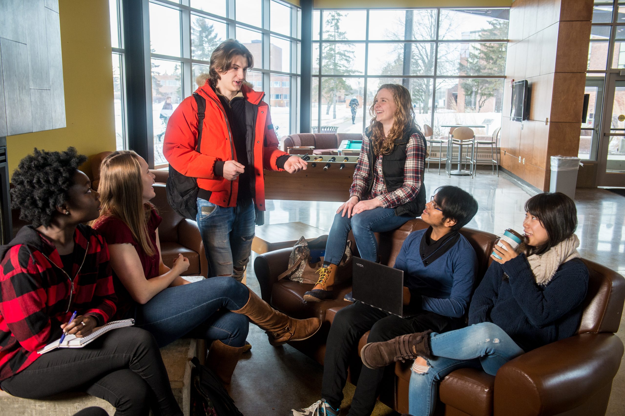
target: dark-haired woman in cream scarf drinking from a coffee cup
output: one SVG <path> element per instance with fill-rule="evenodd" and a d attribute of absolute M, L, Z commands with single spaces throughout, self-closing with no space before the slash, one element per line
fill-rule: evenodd
<path fill-rule="evenodd" d="M 476 367 L 495 375 L 514 357 L 575 334 L 588 286 L 573 234 L 575 203 L 560 192 L 545 192 L 531 197 L 525 210 L 524 242 L 514 249 L 507 240 L 516 235 L 506 230 L 510 235 L 494 247 L 493 262 L 471 299 L 468 327 L 362 347 L 369 368 L 415 360 L 412 416 L 434 414 L 438 383 L 453 370 Z"/>

